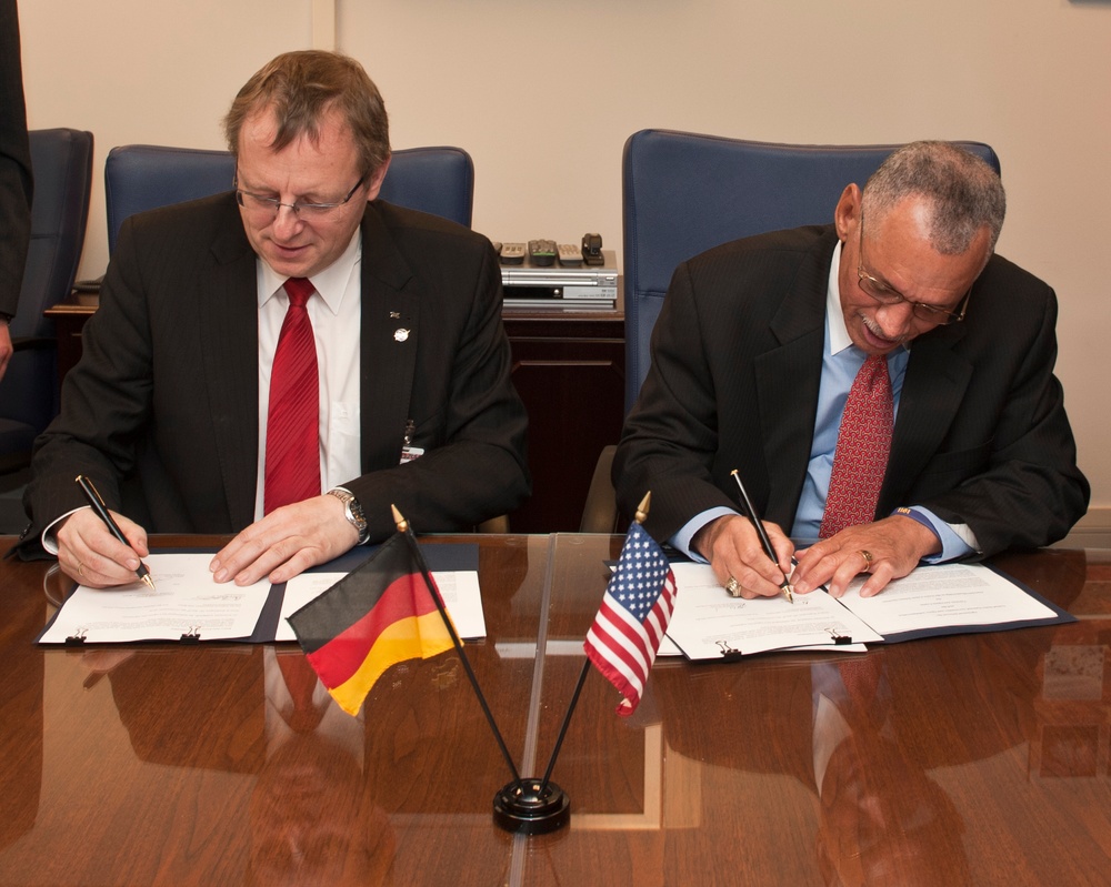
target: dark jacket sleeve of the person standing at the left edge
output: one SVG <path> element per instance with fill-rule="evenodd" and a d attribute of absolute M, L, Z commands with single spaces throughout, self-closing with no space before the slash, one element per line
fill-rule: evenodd
<path fill-rule="evenodd" d="M 0 0 L 0 312 L 14 314 L 31 236 L 31 149 L 16 0 Z"/>

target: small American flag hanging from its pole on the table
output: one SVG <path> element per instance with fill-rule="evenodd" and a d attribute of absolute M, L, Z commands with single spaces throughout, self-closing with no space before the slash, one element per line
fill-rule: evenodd
<path fill-rule="evenodd" d="M 618 706 L 623 717 L 640 704 L 674 606 L 675 576 L 668 558 L 643 527 L 633 524 L 582 645 L 594 667 L 624 696 Z"/>

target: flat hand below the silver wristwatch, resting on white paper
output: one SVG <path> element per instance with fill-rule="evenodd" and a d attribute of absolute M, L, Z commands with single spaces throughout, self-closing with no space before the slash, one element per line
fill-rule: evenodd
<path fill-rule="evenodd" d="M 343 504 L 321 495 L 277 508 L 217 552 L 209 570 L 217 582 L 251 585 L 263 576 L 274 585 L 353 548 L 358 531 Z"/>

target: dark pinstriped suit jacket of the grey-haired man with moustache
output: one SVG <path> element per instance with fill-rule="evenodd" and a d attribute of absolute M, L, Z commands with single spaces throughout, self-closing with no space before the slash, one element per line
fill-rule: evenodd
<path fill-rule="evenodd" d="M 668 538 L 737 507 L 738 470 L 765 520 L 790 532 L 818 407 L 837 235 L 801 228 L 710 250 L 675 271 L 652 366 L 613 463 L 632 514 Z M 962 323 L 911 345 L 877 516 L 921 505 L 967 523 L 985 554 L 1064 536 L 1089 486 L 1064 413 L 1053 291 L 992 256 Z"/>

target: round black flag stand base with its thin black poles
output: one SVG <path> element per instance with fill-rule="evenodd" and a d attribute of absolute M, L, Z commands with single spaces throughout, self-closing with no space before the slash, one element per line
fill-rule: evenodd
<path fill-rule="evenodd" d="M 436 589 L 436 585 L 432 582 L 432 575 L 428 570 L 428 565 L 424 563 L 424 555 L 420 551 L 420 545 L 417 544 L 417 537 L 413 535 L 412 527 L 409 526 L 409 522 L 401 516 L 401 512 L 398 511 L 396 505 L 390 506 L 393 510 L 393 520 L 398 525 L 398 532 L 401 533 L 413 553 L 413 557 L 417 558 L 417 563 L 420 566 L 421 575 L 424 577 L 424 584 L 428 585 L 429 594 L 432 595 L 432 601 L 436 603 L 436 608 L 440 612 L 440 617 L 443 619 L 443 624 L 448 627 L 448 634 L 451 635 L 451 643 L 454 644 L 456 651 L 459 653 L 459 659 L 463 664 L 463 669 L 467 672 L 467 677 L 471 682 L 471 686 L 474 688 L 474 695 L 478 696 L 479 705 L 482 706 L 482 713 L 486 715 L 487 722 L 490 724 L 490 729 L 493 732 L 494 738 L 498 740 L 498 747 L 501 749 L 502 757 L 506 758 L 506 763 L 509 765 L 509 772 L 513 774 L 513 780 L 508 783 L 506 786 L 494 795 L 493 798 L 493 820 L 501 828 L 507 831 L 521 831 L 527 835 L 543 835 L 548 831 L 554 831 L 558 828 L 562 828 L 567 825 L 571 817 L 571 800 L 568 798 L 567 793 L 563 792 L 554 783 L 548 780 L 548 776 L 544 778 L 536 779 L 528 778 L 522 779 L 520 773 L 517 770 L 517 765 L 513 764 L 513 758 L 509 754 L 509 748 L 506 747 L 506 740 L 501 737 L 501 732 L 498 729 L 497 723 L 493 719 L 493 713 L 490 710 L 490 706 L 487 704 L 486 696 L 482 695 L 482 688 L 479 686 L 479 679 L 474 675 L 474 671 L 471 668 L 471 663 L 467 658 L 467 654 L 463 653 L 462 642 L 459 639 L 459 635 L 456 634 L 456 627 L 451 624 L 451 619 L 448 617 L 448 612 L 443 608 L 443 602 L 440 599 L 440 594 Z M 583 671 L 583 677 L 585 677 L 585 669 Z M 579 679 L 579 686 L 582 686 L 582 678 Z M 575 698 L 578 698 L 578 692 L 575 692 Z M 572 708 L 574 704 L 572 703 Z M 570 719 L 571 713 L 568 712 L 568 719 Z M 560 742 L 563 739 L 563 733 L 567 730 L 567 720 L 563 723 L 563 729 L 560 732 Z M 557 746 L 558 747 L 558 746 Z M 551 767 L 556 763 L 554 756 L 552 756 L 552 763 L 548 766 L 548 773 L 551 773 Z"/>

